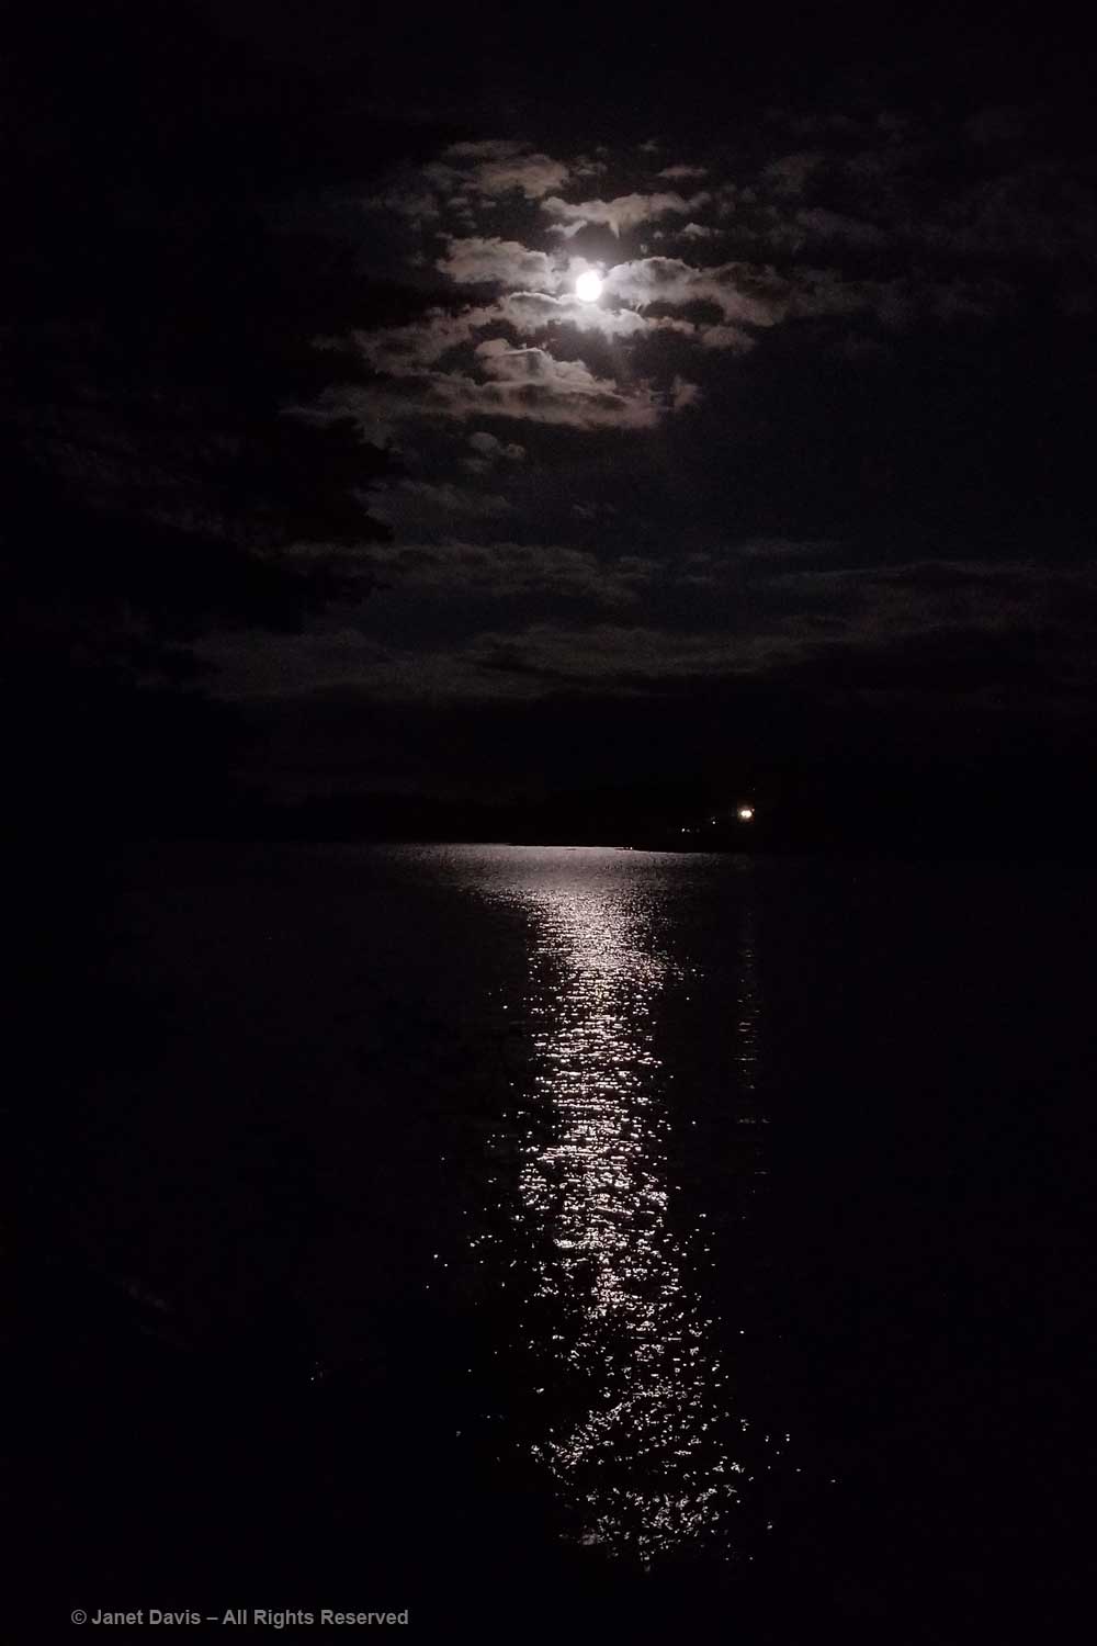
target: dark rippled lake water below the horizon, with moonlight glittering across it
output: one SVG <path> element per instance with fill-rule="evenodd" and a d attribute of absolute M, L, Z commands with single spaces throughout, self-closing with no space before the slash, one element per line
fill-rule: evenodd
<path fill-rule="evenodd" d="M 498 1562 L 773 1638 L 1061 1600 L 1090 917 L 1039 864 L 137 854 L 64 1220 L 199 1368 L 138 1417 L 243 1388 L 238 1511 L 308 1476 L 413 1610 Z"/>

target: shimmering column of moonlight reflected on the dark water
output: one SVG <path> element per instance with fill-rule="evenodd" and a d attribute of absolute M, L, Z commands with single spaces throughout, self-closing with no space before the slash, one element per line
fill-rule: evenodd
<path fill-rule="evenodd" d="M 641 1560 L 732 1555 L 750 1478 L 748 1425 L 696 1287 L 704 1225 L 694 1238 L 673 1218 L 653 1007 L 676 968 L 656 943 L 660 890 L 569 874 L 561 853 L 521 894 L 533 1068 L 513 1233 L 531 1276 L 523 1335 L 549 1396 L 535 1453 L 574 1536 Z"/>

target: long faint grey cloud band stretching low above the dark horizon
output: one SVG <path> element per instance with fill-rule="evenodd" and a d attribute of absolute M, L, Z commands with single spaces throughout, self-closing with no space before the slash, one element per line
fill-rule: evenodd
<path fill-rule="evenodd" d="M 847 700 L 882 693 L 913 701 L 947 693 L 988 708 L 1021 690 L 1039 701 L 1076 703 L 1092 691 L 1097 578 L 1092 568 L 1033 561 L 910 561 L 789 570 L 798 558 L 840 545 L 811 538 L 748 538 L 729 553 L 691 553 L 674 565 L 638 555 L 599 558 L 564 543 L 363 545 L 355 558 L 383 588 L 418 601 L 576 601 L 594 621 L 484 627 L 431 649 L 393 647 L 332 616 L 327 629 L 280 640 L 237 635 L 204 644 L 229 696 L 296 695 L 350 685 L 388 701 L 535 701 L 561 690 L 666 696 L 694 685 L 770 680 Z M 771 619 L 669 629 L 599 619 L 658 597 L 668 574 L 702 593 L 740 589 L 747 560 L 755 596 Z M 766 576 L 766 566 L 776 570 Z M 383 621 L 385 594 L 365 607 Z M 1079 627 L 1077 614 L 1082 612 Z"/>

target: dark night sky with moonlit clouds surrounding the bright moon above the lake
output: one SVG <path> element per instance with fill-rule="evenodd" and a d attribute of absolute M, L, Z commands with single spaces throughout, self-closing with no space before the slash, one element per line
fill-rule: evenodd
<path fill-rule="evenodd" d="M 201 644 L 262 728 L 265 779 L 498 793 L 743 754 L 1085 747 L 1081 23 L 350 0 L 194 20 L 178 69 L 158 59 L 171 142 L 127 148 L 125 232 L 163 235 L 161 165 L 192 140 L 217 179 L 224 146 L 298 249 L 260 346 L 276 362 L 293 331 L 322 382 L 286 375 L 285 405 L 350 415 L 401 464 L 368 504 L 390 542 L 293 550 L 359 593 L 298 635 Z M 222 49 L 240 95 L 211 117 L 202 54 Z M 150 51 L 89 64 L 99 92 L 72 89 L 74 58 L 61 81 L 118 122 Z M 201 168 L 191 188 L 217 193 Z M 110 270 L 118 209 L 84 224 Z M 229 360 L 248 324 L 232 237 L 224 258 Z M 584 268 L 597 303 L 574 295 Z M 202 273 L 183 257 L 160 301 L 217 306 L 207 253 Z"/>

